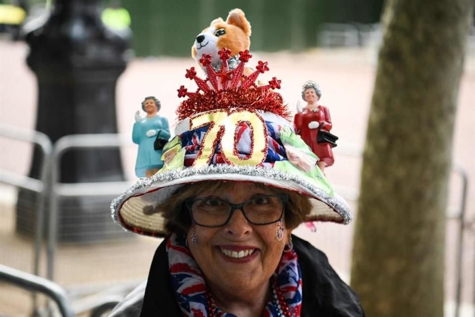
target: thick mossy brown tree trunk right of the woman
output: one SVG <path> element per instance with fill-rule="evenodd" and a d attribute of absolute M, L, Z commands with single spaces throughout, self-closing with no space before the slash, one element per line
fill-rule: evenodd
<path fill-rule="evenodd" d="M 447 184 L 473 0 L 388 0 L 351 285 L 368 317 L 442 317 Z"/>

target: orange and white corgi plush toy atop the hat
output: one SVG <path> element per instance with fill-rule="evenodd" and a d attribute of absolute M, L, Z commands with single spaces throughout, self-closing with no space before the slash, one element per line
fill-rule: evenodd
<path fill-rule="evenodd" d="M 229 12 L 226 21 L 222 18 L 217 18 L 211 22 L 209 27 L 196 36 L 191 47 L 191 55 L 200 64 L 199 59 L 201 56 L 203 54 L 210 54 L 211 66 L 215 70 L 220 70 L 221 61 L 219 60 L 218 51 L 222 48 L 227 48 L 231 51 L 232 56 L 228 64 L 230 68 L 236 68 L 238 53 L 249 50 L 251 44 L 250 36 L 251 24 L 244 16 L 244 12 L 241 9 L 234 9 Z"/>

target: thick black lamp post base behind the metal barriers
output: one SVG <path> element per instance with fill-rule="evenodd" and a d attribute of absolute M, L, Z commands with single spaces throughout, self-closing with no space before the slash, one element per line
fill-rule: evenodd
<path fill-rule="evenodd" d="M 38 80 L 36 130 L 47 134 L 53 143 L 69 134 L 117 132 L 115 87 L 126 68 L 130 39 L 103 25 L 101 2 L 56 0 L 46 23 L 26 35 L 30 46 L 27 63 Z M 35 149 L 31 177 L 39 178 L 40 163 L 40 152 Z M 118 149 L 67 152 L 60 170 L 62 183 L 124 180 Z M 33 231 L 34 199 L 30 191 L 18 194 L 18 232 L 31 235 Z M 101 219 L 104 226 L 113 226 L 109 203 L 109 198 L 94 202 L 81 198 L 62 200 L 58 239 L 100 239 L 97 234 L 104 228 L 97 224 Z M 89 230 L 91 221 L 95 222 L 95 234 L 71 231 L 81 227 Z"/>

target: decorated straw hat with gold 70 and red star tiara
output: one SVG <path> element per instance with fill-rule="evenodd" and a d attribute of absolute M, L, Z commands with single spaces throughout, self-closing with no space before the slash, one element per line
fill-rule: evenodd
<path fill-rule="evenodd" d="M 165 219 L 150 212 L 185 184 L 201 181 L 248 181 L 301 193 L 315 199 L 305 221 L 348 223 L 347 203 L 316 165 L 318 157 L 293 131 L 290 113 L 274 90 L 281 81 L 272 78 L 258 86 L 257 77 L 269 70 L 259 61 L 255 71 L 244 75 L 251 55 L 239 53 L 239 64 L 230 69 L 230 51 L 219 52 L 221 69 L 211 67 L 211 56 L 200 62 L 207 78 L 194 67 L 186 76 L 198 89 L 184 86 L 179 97 L 187 99 L 177 109 L 175 137 L 164 149 L 164 166 L 151 178 L 140 179 L 111 204 L 112 217 L 126 230 L 163 236 Z"/>

